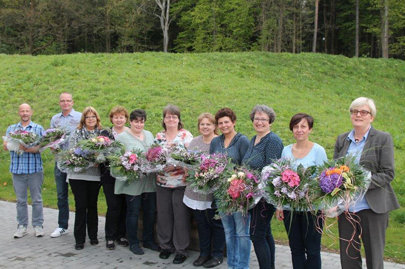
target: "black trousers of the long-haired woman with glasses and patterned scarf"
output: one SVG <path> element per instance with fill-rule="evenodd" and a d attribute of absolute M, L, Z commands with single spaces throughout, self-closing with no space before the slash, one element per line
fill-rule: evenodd
<path fill-rule="evenodd" d="M 76 244 L 86 241 L 86 225 L 90 239 L 97 239 L 98 215 L 97 198 L 101 188 L 100 181 L 69 179 L 74 195 L 75 218 L 74 239 Z"/>

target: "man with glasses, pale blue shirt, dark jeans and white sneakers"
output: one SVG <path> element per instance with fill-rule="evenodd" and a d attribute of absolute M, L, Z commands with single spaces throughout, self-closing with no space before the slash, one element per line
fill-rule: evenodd
<path fill-rule="evenodd" d="M 59 106 L 62 112 L 56 114 L 51 119 L 51 128 L 66 128 L 71 134 L 74 133 L 77 125 L 80 122 L 82 113 L 76 112 L 73 109 L 73 97 L 69 92 L 62 92 L 59 96 Z M 61 149 L 67 149 L 69 141 L 61 145 Z M 68 183 L 66 182 L 66 173 L 58 169 L 55 163 L 55 182 L 58 195 L 59 227 L 51 234 L 51 237 L 59 237 L 68 232 L 69 221 L 69 199 L 68 199 Z"/>

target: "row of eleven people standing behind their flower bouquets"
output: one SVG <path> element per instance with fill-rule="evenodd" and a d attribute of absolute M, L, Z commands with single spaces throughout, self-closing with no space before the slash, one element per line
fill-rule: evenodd
<path fill-rule="evenodd" d="M 281 138 L 271 130 L 276 119 L 275 112 L 267 105 L 256 105 L 250 119 L 256 134 L 251 140 L 236 132 L 236 115 L 229 108 L 220 109 L 215 116 L 203 113 L 198 117 L 199 136 L 184 129 L 180 110 L 167 105 L 163 110 L 163 131 L 154 137 L 144 130 L 147 115 L 144 110 L 129 113 L 122 106 L 115 106 L 109 119 L 112 127 L 103 129 L 97 111 L 88 106 L 83 113 L 73 110 L 73 98 L 68 92 L 60 94 L 61 113 L 52 117 L 51 127 L 65 127 L 70 130 L 69 141 L 62 145 L 68 149 L 80 140 L 96 135 L 108 136 L 120 141 L 126 150 L 137 149 L 146 152 L 152 144 L 169 147 L 183 145 L 187 149 L 203 153 L 222 153 L 229 156 L 235 165 L 245 164 L 261 171 L 280 157 L 292 157 L 297 165 L 304 167 L 323 164 L 327 160 L 325 149 L 309 140 L 314 119 L 298 113 L 291 118 L 290 130 L 295 143 L 284 146 Z M 390 182 L 394 178 L 393 141 L 390 134 L 372 127 L 376 107 L 372 99 L 359 97 L 350 107 L 353 129 L 338 136 L 334 158 L 354 154 L 356 162 L 372 173 L 372 183 L 365 195 L 349 208 L 357 218 L 353 227 L 344 216 L 339 216 L 340 257 L 343 268 L 361 268 L 360 243 L 365 248 L 368 268 L 383 268 L 385 230 L 388 227 L 389 211 L 399 207 Z M 38 135 L 44 133 L 41 125 L 31 121 L 32 110 L 28 104 L 19 106 L 21 121 L 9 126 L 7 134 L 15 130 L 27 130 Z M 129 122 L 130 127 L 126 127 Z M 221 135 L 219 135 L 221 131 Z M 7 135 L 6 134 L 6 135 Z M 8 143 L 3 143 L 8 150 Z M 39 148 L 26 148 L 22 155 L 10 151 L 10 172 L 17 195 L 18 228 L 15 238 L 28 233 L 27 187 L 32 199 L 32 226 L 35 236 L 44 236 L 43 204 L 41 186 L 43 166 Z M 131 183 L 115 180 L 108 163 L 78 173 L 63 173 L 55 164 L 55 181 L 58 196 L 59 227 L 51 237 L 68 233 L 68 184 L 74 195 L 75 249 L 83 249 L 86 229 L 91 245 L 98 244 L 98 193 L 103 187 L 107 202 L 105 240 L 106 248 L 114 249 L 115 244 L 129 246 L 134 254 L 143 254 L 138 239 L 140 207 L 143 210 L 143 248 L 160 251 L 161 259 L 168 259 L 175 253 L 173 263 L 186 259 L 190 242 L 191 214 L 197 223 L 200 255 L 193 262 L 195 266 L 211 268 L 223 262 L 226 244 L 228 268 L 249 268 L 251 243 L 260 268 L 274 268 L 275 245 L 271 234 L 271 219 L 276 213 L 284 221 L 288 233 L 294 268 L 321 268 L 320 240 L 323 223 L 313 219 L 310 212 L 277 210 L 266 200 L 260 200 L 246 215 L 235 212 L 214 218 L 217 206 L 212 194 L 194 192 L 187 185 L 187 169 L 166 166 L 161 173 L 142 175 Z M 157 242 L 154 238 L 155 211 L 157 211 Z M 354 243 L 349 239 L 355 233 Z"/>

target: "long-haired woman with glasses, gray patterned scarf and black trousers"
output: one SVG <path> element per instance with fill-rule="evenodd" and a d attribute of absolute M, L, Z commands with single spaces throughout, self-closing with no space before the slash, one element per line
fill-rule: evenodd
<path fill-rule="evenodd" d="M 80 140 L 98 136 L 102 126 L 100 116 L 92 106 L 83 110 L 82 118 L 74 133 L 69 138 L 69 148 L 74 147 Z M 100 169 L 92 167 L 79 173 L 67 173 L 70 188 L 74 195 L 74 239 L 75 249 L 83 249 L 86 241 L 86 226 L 90 244 L 97 245 L 98 214 L 97 199 L 101 188 Z"/>

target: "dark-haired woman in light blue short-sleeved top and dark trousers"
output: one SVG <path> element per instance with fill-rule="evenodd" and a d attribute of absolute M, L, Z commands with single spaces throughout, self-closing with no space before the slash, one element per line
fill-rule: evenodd
<path fill-rule="evenodd" d="M 290 130 L 297 142 L 284 147 L 281 157 L 294 158 L 297 166 L 301 164 L 305 168 L 322 165 L 327 160 L 326 152 L 320 145 L 309 141 L 312 126 L 313 118 L 311 116 L 304 113 L 294 115 L 290 121 Z M 292 218 L 290 218 L 291 213 L 293 213 Z M 313 217 L 309 211 L 289 210 L 277 210 L 276 216 L 278 220 L 284 220 L 293 268 L 320 269 L 321 234 L 315 228 L 316 217 Z M 322 222 L 318 222 L 316 225 L 320 229 L 323 228 Z"/>

